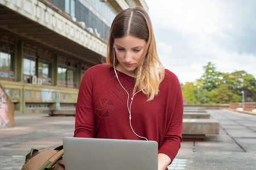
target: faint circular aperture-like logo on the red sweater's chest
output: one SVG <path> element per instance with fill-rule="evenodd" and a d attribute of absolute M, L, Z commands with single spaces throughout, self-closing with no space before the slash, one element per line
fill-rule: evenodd
<path fill-rule="evenodd" d="M 95 112 L 102 118 L 108 118 L 114 113 L 114 102 L 109 98 L 102 98 L 96 102 Z"/>

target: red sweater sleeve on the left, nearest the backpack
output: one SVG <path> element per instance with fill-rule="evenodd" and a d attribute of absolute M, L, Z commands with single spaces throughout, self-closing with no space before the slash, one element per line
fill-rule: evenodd
<path fill-rule="evenodd" d="M 74 137 L 95 137 L 95 114 L 93 107 L 93 75 L 87 70 L 84 74 L 77 97 Z"/>

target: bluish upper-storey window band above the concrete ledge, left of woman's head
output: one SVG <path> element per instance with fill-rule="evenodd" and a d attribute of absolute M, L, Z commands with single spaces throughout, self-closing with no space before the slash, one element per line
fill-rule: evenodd
<path fill-rule="evenodd" d="M 108 2 L 99 0 L 48 0 L 61 10 L 67 12 L 75 20 L 84 22 L 85 27 L 92 28 L 96 35 L 106 41 L 111 23 L 117 12 Z"/>

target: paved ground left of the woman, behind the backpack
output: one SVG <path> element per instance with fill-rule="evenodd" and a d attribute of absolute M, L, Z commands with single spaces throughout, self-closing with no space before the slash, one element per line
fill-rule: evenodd
<path fill-rule="evenodd" d="M 50 117 L 47 114 L 18 114 L 14 128 L 0 129 L 0 169 L 21 169 L 30 148 L 43 151 L 72 137 L 75 117 Z"/>

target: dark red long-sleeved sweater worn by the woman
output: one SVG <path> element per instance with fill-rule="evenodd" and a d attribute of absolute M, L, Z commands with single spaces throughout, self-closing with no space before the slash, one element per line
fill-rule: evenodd
<path fill-rule="evenodd" d="M 118 78 L 131 98 L 135 78 L 121 72 Z M 113 68 L 106 64 L 90 67 L 80 84 L 75 137 L 143 140 L 130 128 L 127 96 Z M 158 142 L 159 153 L 174 160 L 180 148 L 183 120 L 183 96 L 177 77 L 165 69 L 158 95 L 146 100 L 142 92 L 134 96 L 131 125 L 138 135 Z"/>

